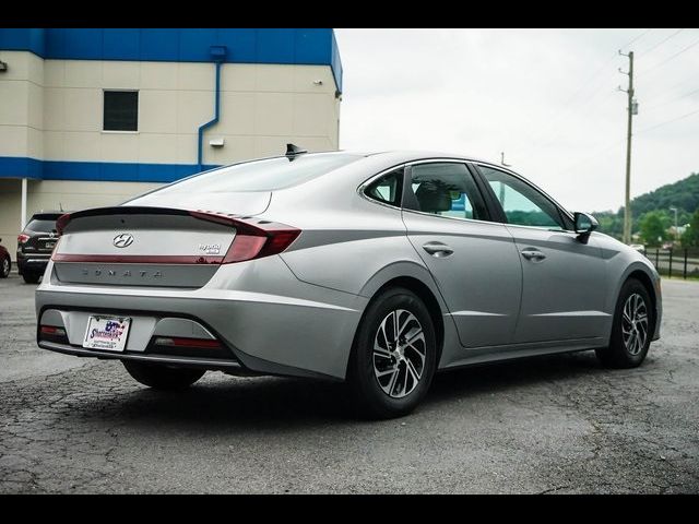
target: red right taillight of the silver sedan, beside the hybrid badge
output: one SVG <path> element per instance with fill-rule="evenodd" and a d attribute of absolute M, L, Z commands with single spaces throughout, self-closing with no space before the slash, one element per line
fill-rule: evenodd
<path fill-rule="evenodd" d="M 222 261 L 223 264 L 279 254 L 285 251 L 301 234 L 301 230 L 295 227 L 268 221 L 250 224 L 240 218 L 203 211 L 192 211 L 190 215 L 194 218 L 226 224 L 236 228 L 236 237 Z"/>

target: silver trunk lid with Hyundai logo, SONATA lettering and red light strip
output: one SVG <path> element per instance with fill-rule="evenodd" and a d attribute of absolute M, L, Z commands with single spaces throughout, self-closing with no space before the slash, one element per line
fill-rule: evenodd
<path fill-rule="evenodd" d="M 222 264 L 273 254 L 300 233 L 249 215 L 135 205 L 64 215 L 58 228 L 61 283 L 175 288 L 202 287 Z"/>

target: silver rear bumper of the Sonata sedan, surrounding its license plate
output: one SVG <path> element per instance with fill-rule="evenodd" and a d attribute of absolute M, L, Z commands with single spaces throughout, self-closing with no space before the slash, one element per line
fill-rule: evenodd
<path fill-rule="evenodd" d="M 221 266 L 199 289 L 71 285 L 57 279 L 50 263 L 36 290 L 38 324 L 62 323 L 69 341 L 43 341 L 37 329 L 37 343 L 76 356 L 343 380 L 366 303 L 364 297 L 298 281 L 279 257 Z M 87 318 L 96 313 L 133 319 L 125 353 L 82 347 Z M 229 358 L 150 355 L 154 335 L 187 336 L 161 330 L 166 319 L 201 324 Z"/>

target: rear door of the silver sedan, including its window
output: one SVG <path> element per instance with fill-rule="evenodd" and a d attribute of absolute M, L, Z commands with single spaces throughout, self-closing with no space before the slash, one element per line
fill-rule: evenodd
<path fill-rule="evenodd" d="M 464 163 L 417 163 L 405 176 L 407 236 L 437 282 L 461 344 L 510 344 L 522 273 L 512 236 L 505 225 L 488 222 L 488 210 Z"/>

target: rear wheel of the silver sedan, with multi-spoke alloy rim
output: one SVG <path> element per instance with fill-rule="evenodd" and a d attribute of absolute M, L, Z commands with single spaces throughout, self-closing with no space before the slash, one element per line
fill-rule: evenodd
<path fill-rule="evenodd" d="M 376 297 L 359 324 L 347 368 L 355 407 L 370 418 L 407 415 L 427 394 L 437 366 L 435 327 L 411 290 Z"/>

